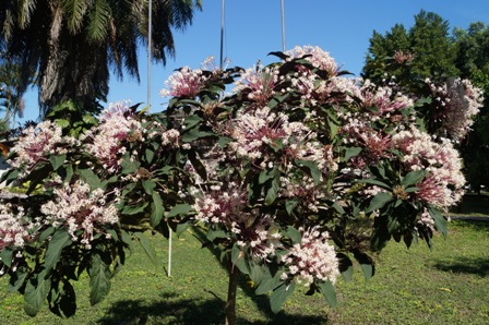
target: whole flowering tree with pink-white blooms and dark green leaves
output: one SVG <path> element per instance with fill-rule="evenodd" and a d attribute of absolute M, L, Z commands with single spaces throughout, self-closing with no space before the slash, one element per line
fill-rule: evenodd
<path fill-rule="evenodd" d="M 222 250 L 228 324 L 240 274 L 274 312 L 297 285 L 335 305 L 333 285 L 351 277 L 354 260 L 368 279 L 369 250 L 391 239 L 431 246 L 434 230 L 446 233 L 442 213 L 464 185 L 446 136 L 464 135 L 453 123 L 469 123 L 477 89 L 449 86 L 456 108 L 432 124 L 417 109 L 427 98 L 344 77 L 320 48 L 273 55 L 282 61 L 248 70 L 182 68 L 162 91 L 163 113 L 118 103 L 80 136 L 49 121 L 25 132 L 7 180 L 44 192 L 2 206 L 0 256 L 27 313 L 47 299 L 72 315 L 70 280 L 84 270 L 98 302 L 131 238 L 151 253 L 150 228 L 195 227 Z"/>

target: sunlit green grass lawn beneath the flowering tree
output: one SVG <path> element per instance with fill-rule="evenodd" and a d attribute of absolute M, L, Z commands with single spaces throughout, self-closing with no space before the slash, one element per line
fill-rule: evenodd
<path fill-rule="evenodd" d="M 23 298 L 9 293 L 0 278 L 1 324 L 222 324 L 227 274 L 217 258 L 187 232 L 174 238 L 171 277 L 167 276 L 167 241 L 152 240 L 162 261 L 154 267 L 136 246 L 112 281 L 109 297 L 88 303 L 87 279 L 75 282 L 76 315 L 53 316 L 47 305 L 31 318 Z M 407 250 L 392 242 L 377 256 L 377 274 L 366 282 L 337 282 L 338 308 L 322 297 L 297 290 L 274 315 L 264 297 L 243 280 L 238 289 L 239 324 L 489 324 L 489 222 L 456 220 L 434 248 L 425 243 Z"/>

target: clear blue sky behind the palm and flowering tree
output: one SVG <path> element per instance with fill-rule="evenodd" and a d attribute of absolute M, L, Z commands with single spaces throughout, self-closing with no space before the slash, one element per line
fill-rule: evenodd
<path fill-rule="evenodd" d="M 152 111 L 162 110 L 166 99 L 159 97 L 164 81 L 180 67 L 200 68 L 201 62 L 214 56 L 219 61 L 222 0 L 202 0 L 203 11 L 196 12 L 193 24 L 184 32 L 176 31 L 176 58 L 167 65 L 152 64 Z M 473 22 L 489 25 L 487 0 L 284 0 L 286 49 L 295 46 L 319 46 L 345 70 L 359 74 L 363 65 L 373 31 L 384 34 L 399 23 L 406 28 L 414 16 L 426 10 L 450 22 L 451 28 L 467 28 Z M 260 59 L 279 51 L 282 43 L 281 0 L 226 0 L 224 57 L 230 65 L 250 68 Z M 108 101 L 130 99 L 133 104 L 147 104 L 147 53 L 140 50 L 141 83 L 128 76 L 110 80 Z M 37 118 L 37 94 L 25 96 L 24 120 Z M 21 120 L 22 122 L 23 120 Z"/>

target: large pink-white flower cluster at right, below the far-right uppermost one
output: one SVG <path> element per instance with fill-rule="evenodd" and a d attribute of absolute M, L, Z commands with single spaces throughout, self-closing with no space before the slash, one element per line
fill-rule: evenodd
<path fill-rule="evenodd" d="M 419 200 L 445 209 L 462 198 L 465 184 L 462 159 L 451 142 L 437 143 L 415 127 L 394 134 L 392 142 L 393 147 L 404 154 L 403 162 L 409 171 L 427 172 L 417 184 L 416 196 Z"/>

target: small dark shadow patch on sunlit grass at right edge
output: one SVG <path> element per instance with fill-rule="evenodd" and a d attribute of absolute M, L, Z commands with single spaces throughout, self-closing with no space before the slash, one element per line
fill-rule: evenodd
<path fill-rule="evenodd" d="M 433 267 L 455 274 L 465 273 L 481 277 L 489 276 L 489 258 L 487 257 L 470 258 L 465 256 L 454 256 L 450 260 L 436 261 Z"/>

